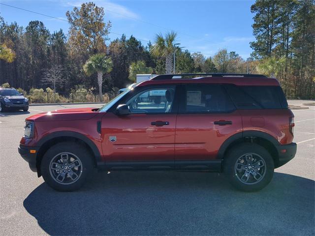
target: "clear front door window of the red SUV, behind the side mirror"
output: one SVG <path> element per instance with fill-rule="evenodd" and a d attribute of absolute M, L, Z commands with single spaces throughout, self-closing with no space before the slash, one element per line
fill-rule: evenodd
<path fill-rule="evenodd" d="M 134 95 L 126 105 L 130 114 L 170 113 L 174 94 L 175 86 L 151 88 Z"/>

